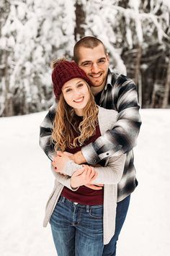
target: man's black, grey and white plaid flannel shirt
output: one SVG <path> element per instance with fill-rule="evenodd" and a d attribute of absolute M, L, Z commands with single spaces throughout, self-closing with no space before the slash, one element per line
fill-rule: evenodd
<path fill-rule="evenodd" d="M 109 70 L 107 84 L 102 91 L 99 106 L 115 109 L 117 121 L 112 130 L 81 148 L 87 163 L 96 164 L 110 155 L 126 153 L 125 168 L 118 184 L 117 202 L 120 202 L 137 187 L 135 166 L 133 163 L 133 147 L 140 130 L 138 94 L 135 83 L 122 74 Z M 50 108 L 40 126 L 40 146 L 50 159 L 53 158 L 54 145 L 50 142 L 56 103 Z"/>

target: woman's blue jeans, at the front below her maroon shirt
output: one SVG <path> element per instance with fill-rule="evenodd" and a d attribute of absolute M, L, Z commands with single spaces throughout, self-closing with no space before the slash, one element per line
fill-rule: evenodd
<path fill-rule="evenodd" d="M 60 197 L 50 226 L 58 256 L 102 256 L 103 205 L 80 205 Z"/>

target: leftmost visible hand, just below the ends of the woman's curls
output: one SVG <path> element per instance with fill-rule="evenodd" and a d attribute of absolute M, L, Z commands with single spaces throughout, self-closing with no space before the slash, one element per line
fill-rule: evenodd
<path fill-rule="evenodd" d="M 71 160 L 68 155 L 70 155 L 70 153 L 57 151 L 57 156 L 53 158 L 52 162 L 56 172 L 63 174 L 64 166 L 69 160 Z"/>

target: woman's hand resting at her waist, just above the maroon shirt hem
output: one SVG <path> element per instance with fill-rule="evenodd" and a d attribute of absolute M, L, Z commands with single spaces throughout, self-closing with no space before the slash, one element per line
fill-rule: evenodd
<path fill-rule="evenodd" d="M 90 184 L 97 178 L 97 172 L 92 166 L 84 165 L 83 168 L 75 171 L 71 176 L 71 187 L 76 188 L 86 184 Z"/>

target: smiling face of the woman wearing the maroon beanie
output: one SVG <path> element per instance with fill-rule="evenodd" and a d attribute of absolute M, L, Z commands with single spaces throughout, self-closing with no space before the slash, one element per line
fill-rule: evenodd
<path fill-rule="evenodd" d="M 63 98 L 74 108 L 78 116 L 83 116 L 84 107 L 89 101 L 89 89 L 81 78 L 73 78 L 65 82 L 62 88 Z"/>

